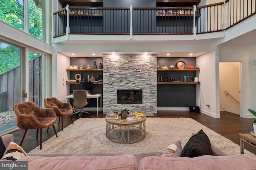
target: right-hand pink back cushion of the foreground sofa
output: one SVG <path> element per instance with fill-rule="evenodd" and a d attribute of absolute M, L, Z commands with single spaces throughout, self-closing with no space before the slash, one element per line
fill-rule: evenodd
<path fill-rule="evenodd" d="M 149 156 L 141 159 L 140 170 L 254 170 L 255 162 L 254 154 L 194 158 Z"/>

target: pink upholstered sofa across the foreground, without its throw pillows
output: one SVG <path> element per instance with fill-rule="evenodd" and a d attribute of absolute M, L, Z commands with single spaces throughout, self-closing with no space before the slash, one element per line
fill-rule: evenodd
<path fill-rule="evenodd" d="M 2 137 L 4 145 L 13 135 Z M 255 170 L 256 156 L 227 156 L 212 145 L 214 156 L 194 158 L 161 157 L 162 152 L 125 154 L 115 152 L 70 154 L 28 154 L 17 161 L 28 161 L 28 170 Z"/>

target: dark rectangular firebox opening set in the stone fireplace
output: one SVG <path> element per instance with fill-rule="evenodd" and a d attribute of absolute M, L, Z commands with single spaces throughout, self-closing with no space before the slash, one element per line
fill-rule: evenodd
<path fill-rule="evenodd" d="M 117 104 L 142 104 L 142 90 L 117 90 Z"/>

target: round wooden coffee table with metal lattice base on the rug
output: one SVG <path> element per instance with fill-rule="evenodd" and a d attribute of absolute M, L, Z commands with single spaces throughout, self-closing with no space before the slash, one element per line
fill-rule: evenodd
<path fill-rule="evenodd" d="M 146 117 L 143 117 L 142 121 L 130 123 L 119 116 L 118 120 L 124 121 L 116 123 L 113 122 L 115 120 L 105 118 L 106 137 L 112 142 L 123 144 L 142 141 L 146 137 L 146 119 Z"/>

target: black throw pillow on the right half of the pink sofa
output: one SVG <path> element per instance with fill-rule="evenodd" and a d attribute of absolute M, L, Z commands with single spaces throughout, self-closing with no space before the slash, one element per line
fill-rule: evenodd
<path fill-rule="evenodd" d="M 212 147 L 208 136 L 201 129 L 196 135 L 190 137 L 182 149 L 182 157 L 196 157 L 202 155 L 213 155 Z"/>

